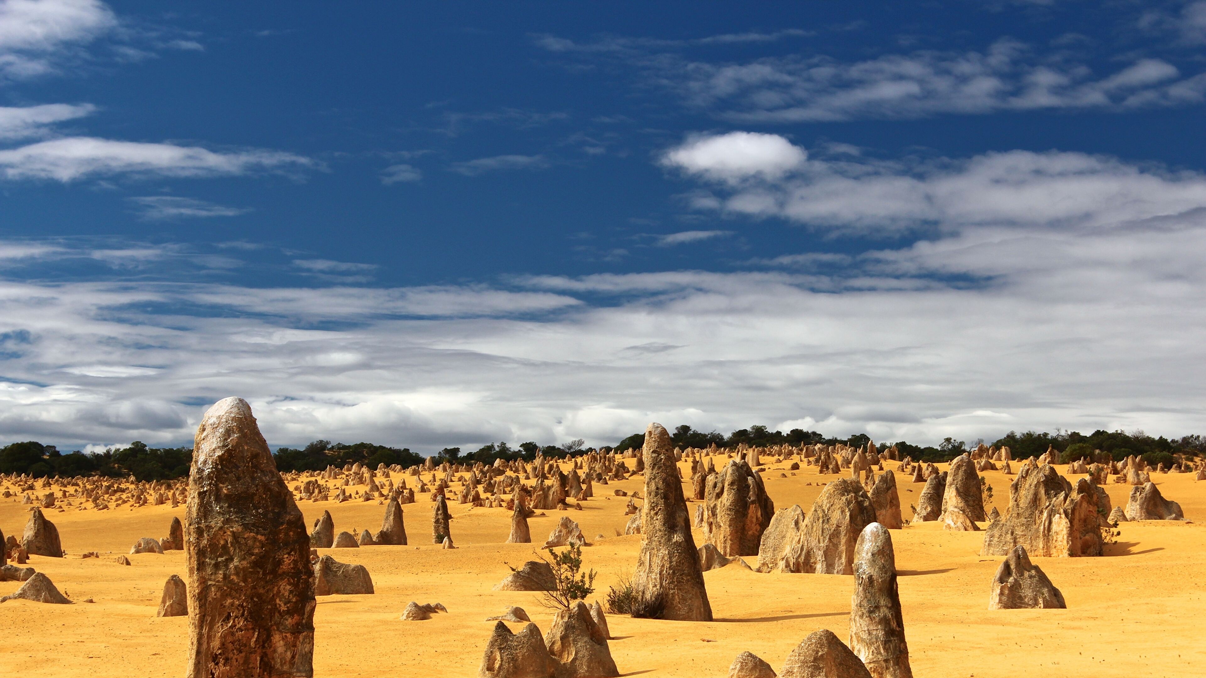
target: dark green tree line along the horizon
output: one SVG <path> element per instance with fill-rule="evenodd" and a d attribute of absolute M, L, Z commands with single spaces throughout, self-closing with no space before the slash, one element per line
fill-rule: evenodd
<path fill-rule="evenodd" d="M 759 425 L 739 428 L 725 436 L 715 431 L 703 433 L 691 426 L 683 425 L 674 428 L 671 433 L 671 440 L 675 446 L 683 449 L 703 449 L 712 445 L 720 449 L 733 449 L 740 444 L 768 448 L 771 445 L 836 445 L 838 443 L 859 448 L 871 442 L 871 437 L 859 433 L 848 438 L 833 438 L 801 428 L 792 428 L 788 433 L 783 433 Z M 977 440 L 971 444 L 971 448 L 983 442 Z M 616 452 L 631 449 L 639 450 L 644 443 L 644 433 L 633 433 L 620 440 L 613 450 Z M 1037 457 L 1048 449 L 1055 449 L 1060 454 L 1061 463 L 1082 458 L 1091 460 L 1095 452 L 1100 451 L 1107 452 L 1116 461 L 1138 455 L 1153 467 L 1164 463 L 1167 468 L 1175 461 L 1173 455 L 1190 457 L 1206 455 L 1206 438 L 1202 436 L 1183 436 L 1173 439 L 1164 436 L 1153 438 L 1142 431 L 1124 433 L 1122 431 L 1097 429 L 1091 434 L 1076 431 L 1056 431 L 1055 433 L 1036 431 L 1017 433 L 1011 431 L 990 444 L 997 448 L 1007 445 L 1015 460 Z M 883 445 L 895 445 L 902 458 L 909 456 L 914 461 L 927 462 L 949 462 L 970 449 L 964 440 L 953 438 L 946 438 L 936 446 L 919 446 L 906 440 L 883 443 Z M 539 445 L 534 442 L 527 442 L 520 443 L 515 448 L 500 442 L 482 445 L 473 452 L 463 452 L 461 448 L 444 448 L 434 457 L 437 463 L 481 462 L 492 464 L 499 458 L 503 461 L 532 461 L 538 452 L 543 452 L 546 457 L 564 457 L 593 451 L 596 449 L 585 446 L 582 439 L 572 440 L 563 445 Z M 422 455 L 410 451 L 409 448 L 391 448 L 373 443 L 349 445 L 321 439 L 303 449 L 280 448 L 273 456 L 276 460 L 276 468 L 282 472 L 322 470 L 328 466 L 343 467 L 350 463 L 362 463 L 370 468 L 376 468 L 382 463 L 409 467 L 426 460 Z M 60 452 L 54 445 L 29 440 L 0 448 L 0 473 L 28 474 L 34 478 L 99 475 L 106 478 L 134 477 L 139 481 L 172 480 L 188 475 L 192 460 L 192 448 L 148 448 L 137 440 L 130 443 L 128 448 L 105 450 L 104 452 L 72 451 L 66 454 Z"/>

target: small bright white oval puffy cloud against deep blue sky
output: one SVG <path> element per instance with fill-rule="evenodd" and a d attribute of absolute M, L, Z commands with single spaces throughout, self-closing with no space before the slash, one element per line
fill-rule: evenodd
<path fill-rule="evenodd" d="M 695 136 L 662 154 L 662 164 L 708 179 L 738 181 L 761 175 L 783 176 L 807 158 L 803 148 L 778 134 L 730 131 Z"/>

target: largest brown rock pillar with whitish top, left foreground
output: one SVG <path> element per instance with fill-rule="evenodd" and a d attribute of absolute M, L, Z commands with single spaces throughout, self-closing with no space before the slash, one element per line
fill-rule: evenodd
<path fill-rule="evenodd" d="M 310 537 L 241 398 L 197 429 L 185 522 L 189 678 L 314 676 Z"/>

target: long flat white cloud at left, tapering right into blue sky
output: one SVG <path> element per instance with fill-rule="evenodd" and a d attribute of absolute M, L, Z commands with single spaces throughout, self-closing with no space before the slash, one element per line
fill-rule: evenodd
<path fill-rule="evenodd" d="M 253 171 L 297 171 L 316 166 L 309 158 L 280 151 L 216 152 L 199 146 L 113 141 L 70 136 L 0 151 L 0 176 L 70 182 L 84 177 L 133 175 L 206 177 Z"/>

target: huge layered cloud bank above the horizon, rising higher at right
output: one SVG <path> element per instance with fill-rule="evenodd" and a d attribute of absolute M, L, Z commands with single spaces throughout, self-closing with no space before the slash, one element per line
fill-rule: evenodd
<path fill-rule="evenodd" d="M 1055 152 L 842 158 L 715 189 L 722 204 L 762 191 L 779 205 L 766 214 L 839 229 L 889 215 L 894 233 L 926 238 L 757 262 L 790 271 L 505 286 L 0 280 L 0 322 L 21 337 L 0 356 L 0 440 L 187 443 L 201 403 L 229 394 L 276 445 L 422 451 L 615 443 L 649 421 L 918 443 L 1206 431 L 1206 175 Z M 806 199 L 825 181 L 839 185 L 824 205 Z M 101 253 L 53 242 L 37 256 Z"/>

